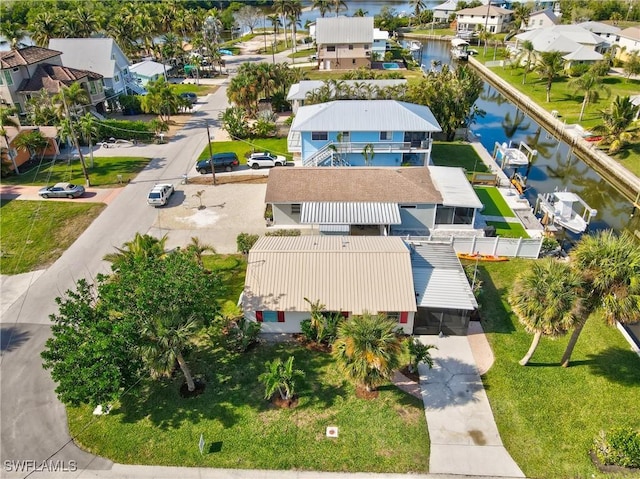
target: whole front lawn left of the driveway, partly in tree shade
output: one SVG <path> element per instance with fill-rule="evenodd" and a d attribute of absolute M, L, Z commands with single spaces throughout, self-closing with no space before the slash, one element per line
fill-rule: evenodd
<path fill-rule="evenodd" d="M 327 353 L 297 344 L 261 345 L 243 355 L 203 341 L 189 358 L 204 394 L 181 399 L 181 378 L 125 395 L 108 416 L 69 408 L 74 439 L 120 463 L 320 471 L 426 472 L 429 437 L 422 401 L 391 384 L 358 399 Z M 298 407 L 276 409 L 257 376 L 267 360 L 295 357 L 306 372 Z M 177 375 L 179 376 L 179 375 Z M 339 437 L 325 437 L 337 426 Z M 206 441 L 200 455 L 200 434 Z"/>

